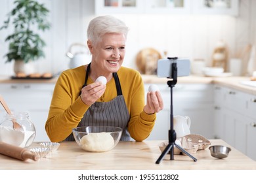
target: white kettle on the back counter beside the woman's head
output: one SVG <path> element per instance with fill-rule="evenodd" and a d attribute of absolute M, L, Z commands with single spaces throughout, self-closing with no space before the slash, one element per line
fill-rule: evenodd
<path fill-rule="evenodd" d="M 74 52 L 74 47 L 79 46 L 83 48 L 83 51 Z M 87 63 L 91 62 L 91 55 L 89 54 L 89 50 L 85 44 L 81 43 L 74 43 L 71 44 L 66 56 L 70 58 L 70 69 L 75 67 L 79 67 L 81 65 L 86 65 Z"/>

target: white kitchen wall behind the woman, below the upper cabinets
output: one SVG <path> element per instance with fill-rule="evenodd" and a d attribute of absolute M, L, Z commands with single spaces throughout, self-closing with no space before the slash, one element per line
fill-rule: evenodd
<path fill-rule="evenodd" d="M 14 0 L 1 0 L 0 25 L 6 20 Z M 51 30 L 41 33 L 47 42 L 46 58 L 35 61 L 37 72 L 59 73 L 68 69 L 66 52 L 74 42 L 86 43 L 86 29 L 95 17 L 93 0 L 40 0 L 50 10 Z M 154 47 L 170 56 L 205 59 L 211 65 L 211 54 L 217 41 L 223 39 L 234 57 L 247 44 L 256 43 L 256 2 L 240 0 L 240 15 L 157 15 L 116 14 L 129 26 L 127 55 L 124 66 L 137 68 L 135 58 L 140 49 Z M 174 27 L 175 26 L 175 27 Z M 8 44 L 9 30 L 0 31 L 0 75 L 13 75 L 13 63 L 5 63 L 3 56 Z M 245 67 L 245 66 L 244 66 Z"/>

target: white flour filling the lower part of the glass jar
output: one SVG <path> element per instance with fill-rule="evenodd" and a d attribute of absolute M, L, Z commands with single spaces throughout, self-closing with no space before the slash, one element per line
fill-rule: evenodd
<path fill-rule="evenodd" d="M 34 134 L 35 131 L 16 131 L 12 127 L 0 125 L 0 141 L 14 146 L 25 147 L 28 139 Z"/>

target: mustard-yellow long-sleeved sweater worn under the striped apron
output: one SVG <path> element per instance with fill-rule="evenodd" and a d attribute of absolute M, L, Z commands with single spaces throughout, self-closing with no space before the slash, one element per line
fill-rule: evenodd
<path fill-rule="evenodd" d="M 45 124 L 47 135 L 53 142 L 64 141 L 72 133 L 72 129 L 77 127 L 83 114 L 90 107 L 79 97 L 79 92 L 85 82 L 85 73 L 84 66 L 68 69 L 59 76 L 56 82 L 49 116 Z M 135 141 L 143 141 L 154 127 L 156 114 L 146 114 L 143 111 L 145 101 L 142 78 L 138 71 L 126 67 L 121 67 L 117 75 L 130 114 L 128 131 Z M 93 80 L 89 77 L 87 84 L 91 83 Z M 98 101 L 108 102 L 116 96 L 116 83 L 112 78 L 106 84 L 106 90 Z"/>

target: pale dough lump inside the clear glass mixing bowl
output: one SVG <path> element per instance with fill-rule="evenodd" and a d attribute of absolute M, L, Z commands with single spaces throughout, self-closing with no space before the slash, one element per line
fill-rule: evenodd
<path fill-rule="evenodd" d="M 114 139 L 110 133 L 89 133 L 81 139 L 81 148 L 91 152 L 105 152 L 114 146 Z"/>

